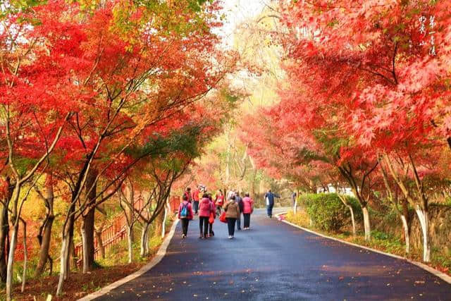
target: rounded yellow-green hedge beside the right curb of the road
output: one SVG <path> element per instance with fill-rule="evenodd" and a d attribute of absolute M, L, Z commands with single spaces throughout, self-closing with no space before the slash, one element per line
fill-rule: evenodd
<path fill-rule="evenodd" d="M 354 217 L 362 221 L 362 209 L 354 197 L 346 197 L 348 204 L 354 209 Z M 339 231 L 343 226 L 351 224 L 350 210 L 335 193 L 319 193 L 302 195 L 299 198 L 307 214 L 316 228 L 325 231 Z"/>

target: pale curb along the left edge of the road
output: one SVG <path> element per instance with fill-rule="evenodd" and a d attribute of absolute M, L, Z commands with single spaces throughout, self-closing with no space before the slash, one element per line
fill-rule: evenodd
<path fill-rule="evenodd" d="M 119 279 L 116 282 L 106 285 L 104 288 L 101 288 L 100 290 L 97 290 L 94 293 L 91 293 L 89 295 L 86 295 L 85 297 L 78 299 L 78 301 L 89 301 L 89 300 L 94 300 L 97 297 L 101 297 L 101 296 L 105 295 L 106 293 L 109 293 L 111 290 L 118 288 L 118 286 L 121 286 L 124 283 L 127 283 L 128 281 L 132 281 L 133 279 L 141 276 L 142 274 L 146 273 L 147 271 L 152 269 L 154 266 L 156 266 L 156 264 L 159 264 L 159 262 L 161 262 L 161 259 L 163 259 L 164 255 L 166 255 L 166 250 L 168 249 L 168 245 L 174 236 L 175 227 L 177 226 L 178 221 L 179 220 L 176 219 L 173 222 L 173 224 L 171 226 L 171 231 L 169 231 L 168 235 L 166 235 L 166 238 L 164 238 L 163 243 L 159 247 L 158 252 L 156 252 L 154 258 L 148 264 L 142 266 L 142 268 L 139 269 L 138 271 L 135 271 L 135 273 L 132 273 L 132 274 L 126 276 L 125 278 Z"/>

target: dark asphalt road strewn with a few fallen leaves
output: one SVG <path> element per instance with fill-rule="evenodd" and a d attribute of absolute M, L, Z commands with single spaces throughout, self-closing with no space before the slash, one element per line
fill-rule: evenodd
<path fill-rule="evenodd" d="M 451 300 L 451 285 L 413 264 L 299 230 L 264 211 L 251 230 L 180 223 L 154 269 L 98 300 Z"/>

